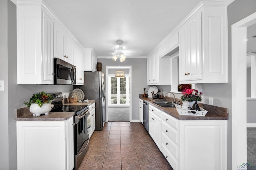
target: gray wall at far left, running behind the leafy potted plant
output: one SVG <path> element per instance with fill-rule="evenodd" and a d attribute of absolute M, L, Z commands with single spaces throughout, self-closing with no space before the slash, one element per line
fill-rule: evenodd
<path fill-rule="evenodd" d="M 5 91 L 0 91 L 0 169 L 17 169 L 16 121 L 14 109 L 25 107 L 33 93 L 45 91 L 68 92 L 73 86 L 17 85 L 16 5 L 10 0 L 0 0 L 0 80 Z"/>

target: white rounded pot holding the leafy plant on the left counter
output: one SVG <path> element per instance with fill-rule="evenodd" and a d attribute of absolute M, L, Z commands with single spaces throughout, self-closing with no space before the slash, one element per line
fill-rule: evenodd
<path fill-rule="evenodd" d="M 44 103 L 43 106 L 38 106 L 38 104 L 33 103 L 29 107 L 29 110 L 31 113 L 33 113 L 33 116 L 40 116 L 41 114 L 48 115 L 49 111 L 51 111 L 52 107 L 54 105 L 50 103 Z"/>

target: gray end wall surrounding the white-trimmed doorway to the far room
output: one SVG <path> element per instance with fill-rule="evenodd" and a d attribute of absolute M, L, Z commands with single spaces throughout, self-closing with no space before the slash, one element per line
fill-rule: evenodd
<path fill-rule="evenodd" d="M 102 72 L 106 74 L 106 66 L 119 66 L 119 59 L 98 59 L 102 63 Z M 147 59 L 125 59 L 123 66 L 132 66 L 132 120 L 138 120 L 139 117 L 139 94 L 143 94 L 147 86 Z"/>

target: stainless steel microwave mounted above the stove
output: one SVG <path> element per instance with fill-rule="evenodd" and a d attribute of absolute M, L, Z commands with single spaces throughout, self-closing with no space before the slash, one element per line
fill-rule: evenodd
<path fill-rule="evenodd" d="M 54 84 L 76 84 L 76 66 L 61 59 L 53 59 Z"/>

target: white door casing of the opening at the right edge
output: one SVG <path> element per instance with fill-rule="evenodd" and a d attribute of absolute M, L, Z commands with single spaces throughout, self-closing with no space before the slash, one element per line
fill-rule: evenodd
<path fill-rule="evenodd" d="M 256 23 L 256 12 L 232 25 L 232 169 L 247 162 L 246 136 L 246 32 Z"/>

